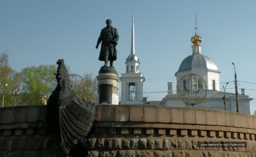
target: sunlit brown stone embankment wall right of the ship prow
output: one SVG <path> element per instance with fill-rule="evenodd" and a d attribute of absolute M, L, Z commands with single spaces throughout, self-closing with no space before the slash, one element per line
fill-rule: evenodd
<path fill-rule="evenodd" d="M 195 108 L 99 105 L 85 144 L 91 156 L 256 156 L 256 117 Z M 198 141 L 247 142 L 246 148 Z"/>

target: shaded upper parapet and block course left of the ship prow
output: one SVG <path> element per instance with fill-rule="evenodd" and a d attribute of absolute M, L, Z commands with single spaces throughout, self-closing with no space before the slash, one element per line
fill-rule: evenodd
<path fill-rule="evenodd" d="M 0 136 L 45 134 L 46 106 L 0 108 Z"/>

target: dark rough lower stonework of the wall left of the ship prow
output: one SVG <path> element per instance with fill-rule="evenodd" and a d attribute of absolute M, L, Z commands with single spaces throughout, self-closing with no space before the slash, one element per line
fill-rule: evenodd
<path fill-rule="evenodd" d="M 62 157 L 58 143 L 49 134 L 1 136 L 0 157 Z"/>

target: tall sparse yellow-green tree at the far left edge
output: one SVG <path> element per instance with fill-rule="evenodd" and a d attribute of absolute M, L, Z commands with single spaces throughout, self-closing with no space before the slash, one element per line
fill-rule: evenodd
<path fill-rule="evenodd" d="M 1 107 L 12 106 L 14 97 L 11 97 L 10 91 L 20 88 L 22 77 L 20 72 L 13 70 L 8 64 L 8 53 L 4 51 L 0 55 L 0 92 Z"/>

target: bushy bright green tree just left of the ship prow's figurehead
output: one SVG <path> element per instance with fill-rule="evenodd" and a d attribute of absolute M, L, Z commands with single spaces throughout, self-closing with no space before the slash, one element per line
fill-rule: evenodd
<path fill-rule="evenodd" d="M 40 65 L 22 69 L 22 103 L 43 105 L 57 85 L 54 73 L 57 66 Z"/>

